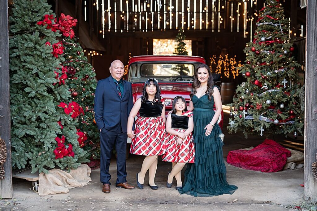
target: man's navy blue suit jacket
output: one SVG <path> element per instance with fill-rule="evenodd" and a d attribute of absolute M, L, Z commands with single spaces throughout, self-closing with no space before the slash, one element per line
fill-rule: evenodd
<path fill-rule="evenodd" d="M 99 80 L 95 91 L 94 112 L 98 129 L 116 131 L 121 123 L 126 133 L 128 116 L 133 107 L 132 86 L 123 80 L 124 90 L 120 98 L 111 76 Z"/>

